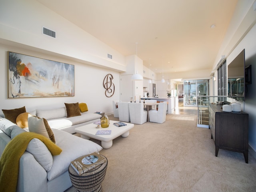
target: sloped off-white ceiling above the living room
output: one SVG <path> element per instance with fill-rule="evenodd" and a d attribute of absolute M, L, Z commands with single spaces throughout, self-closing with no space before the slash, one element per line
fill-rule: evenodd
<path fill-rule="evenodd" d="M 237 0 L 37 0 L 156 73 L 212 69 Z M 215 27 L 212 28 L 211 26 Z"/>

